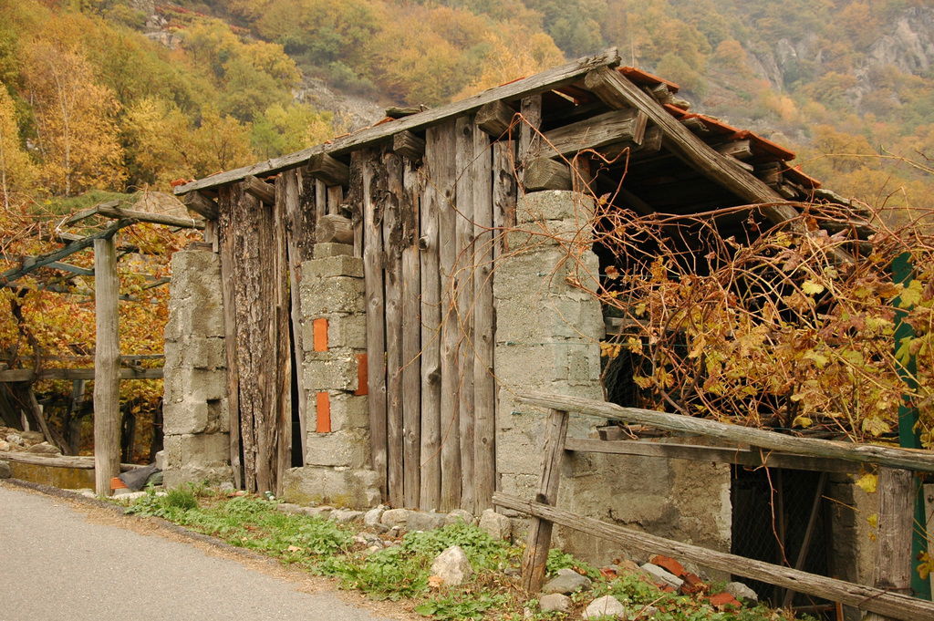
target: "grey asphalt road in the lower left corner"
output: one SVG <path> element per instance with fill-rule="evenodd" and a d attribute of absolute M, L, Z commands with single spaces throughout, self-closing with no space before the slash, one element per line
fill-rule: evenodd
<path fill-rule="evenodd" d="M 383 618 L 248 562 L 121 528 L 126 519 L 89 521 L 68 501 L 0 484 L 0 621 Z"/>

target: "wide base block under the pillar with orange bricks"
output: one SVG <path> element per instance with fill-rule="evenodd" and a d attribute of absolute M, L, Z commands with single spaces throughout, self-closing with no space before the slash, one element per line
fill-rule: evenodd
<path fill-rule="evenodd" d="M 304 466 L 283 475 L 282 497 L 299 504 L 326 503 L 367 509 L 379 502 L 376 473 L 372 470 Z"/>

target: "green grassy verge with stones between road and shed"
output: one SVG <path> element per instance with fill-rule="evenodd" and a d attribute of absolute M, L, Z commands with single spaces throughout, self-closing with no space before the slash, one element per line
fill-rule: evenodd
<path fill-rule="evenodd" d="M 439 621 L 564 621 L 579 619 L 594 598 L 613 595 L 632 614 L 645 606 L 658 612 L 655 621 L 784 621 L 792 617 L 760 605 L 721 612 L 702 600 L 662 593 L 638 574 L 608 580 L 594 567 L 557 550 L 548 555 L 549 574 L 571 568 L 594 581 L 587 593 L 573 595 L 571 614 L 542 613 L 518 587 L 521 548 L 495 540 L 474 526 L 452 524 L 426 532 L 409 532 L 393 545 L 372 551 L 355 542 L 355 531 L 322 517 L 276 510 L 276 501 L 230 498 L 205 487 L 184 487 L 164 496 L 151 490 L 127 510 L 155 515 L 196 532 L 297 564 L 305 571 L 333 576 L 342 588 L 360 590 L 378 600 L 408 600 L 418 614 Z M 434 557 L 460 545 L 474 567 L 461 586 L 432 585 Z M 506 572 L 508 571 L 508 572 Z M 529 611 L 531 616 L 526 614 Z M 803 617 L 808 618 L 808 617 Z"/>

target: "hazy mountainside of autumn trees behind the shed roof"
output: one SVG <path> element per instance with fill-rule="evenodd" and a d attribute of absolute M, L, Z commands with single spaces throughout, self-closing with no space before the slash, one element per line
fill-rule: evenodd
<path fill-rule="evenodd" d="M 3 0 L 3 190 L 164 188 L 611 45 L 842 193 L 929 195 L 922 0 Z"/>

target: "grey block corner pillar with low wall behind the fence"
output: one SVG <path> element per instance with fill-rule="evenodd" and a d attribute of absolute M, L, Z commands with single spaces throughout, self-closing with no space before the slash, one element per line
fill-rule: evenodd
<path fill-rule="evenodd" d="M 575 286 L 597 284 L 592 216 L 592 202 L 570 191 L 521 197 L 517 229 L 525 232 L 509 233 L 510 251 L 494 273 L 498 488 L 521 498 L 537 491 L 545 415 L 517 404 L 513 394 L 540 390 L 603 400 L 601 304 Z M 595 437 L 600 423 L 572 416 L 569 435 Z M 576 454 L 562 473 L 558 503 L 606 522 L 729 551 L 729 484 L 724 464 Z M 626 556 L 565 529 L 558 529 L 556 544 L 598 563 Z"/>

